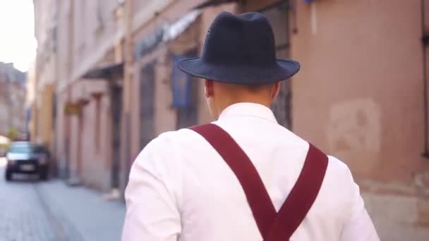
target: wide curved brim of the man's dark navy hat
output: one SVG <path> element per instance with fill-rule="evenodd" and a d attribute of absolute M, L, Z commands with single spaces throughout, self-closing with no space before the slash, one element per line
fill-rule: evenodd
<path fill-rule="evenodd" d="M 180 70 L 198 78 L 243 85 L 263 85 L 287 80 L 298 73 L 300 65 L 293 60 L 277 59 L 270 67 L 227 66 L 205 63 L 202 58 L 179 61 Z"/>

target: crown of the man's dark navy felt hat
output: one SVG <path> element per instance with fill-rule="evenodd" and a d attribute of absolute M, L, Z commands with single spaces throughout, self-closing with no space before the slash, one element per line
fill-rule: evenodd
<path fill-rule="evenodd" d="M 261 13 L 222 12 L 207 31 L 202 58 L 213 65 L 276 65 L 272 27 Z"/>

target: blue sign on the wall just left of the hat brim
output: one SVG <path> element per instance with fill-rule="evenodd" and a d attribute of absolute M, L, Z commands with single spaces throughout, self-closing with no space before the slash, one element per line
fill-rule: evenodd
<path fill-rule="evenodd" d="M 191 75 L 183 73 L 176 63 L 184 56 L 173 56 L 174 66 L 171 74 L 171 89 L 173 92 L 173 106 L 186 108 L 191 106 Z"/>

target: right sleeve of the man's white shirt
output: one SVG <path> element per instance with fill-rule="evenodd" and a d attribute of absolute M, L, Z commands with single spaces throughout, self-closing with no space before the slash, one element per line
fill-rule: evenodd
<path fill-rule="evenodd" d="M 377 231 L 365 209 L 359 186 L 354 182 L 348 167 L 345 171 L 346 182 L 350 187 L 349 210 L 342 228 L 341 241 L 380 241 Z"/>

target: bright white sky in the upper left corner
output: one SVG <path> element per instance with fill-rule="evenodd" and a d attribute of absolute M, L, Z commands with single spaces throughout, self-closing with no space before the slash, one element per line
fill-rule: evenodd
<path fill-rule="evenodd" d="M 27 71 L 36 47 L 32 0 L 0 0 L 0 61 Z"/>

